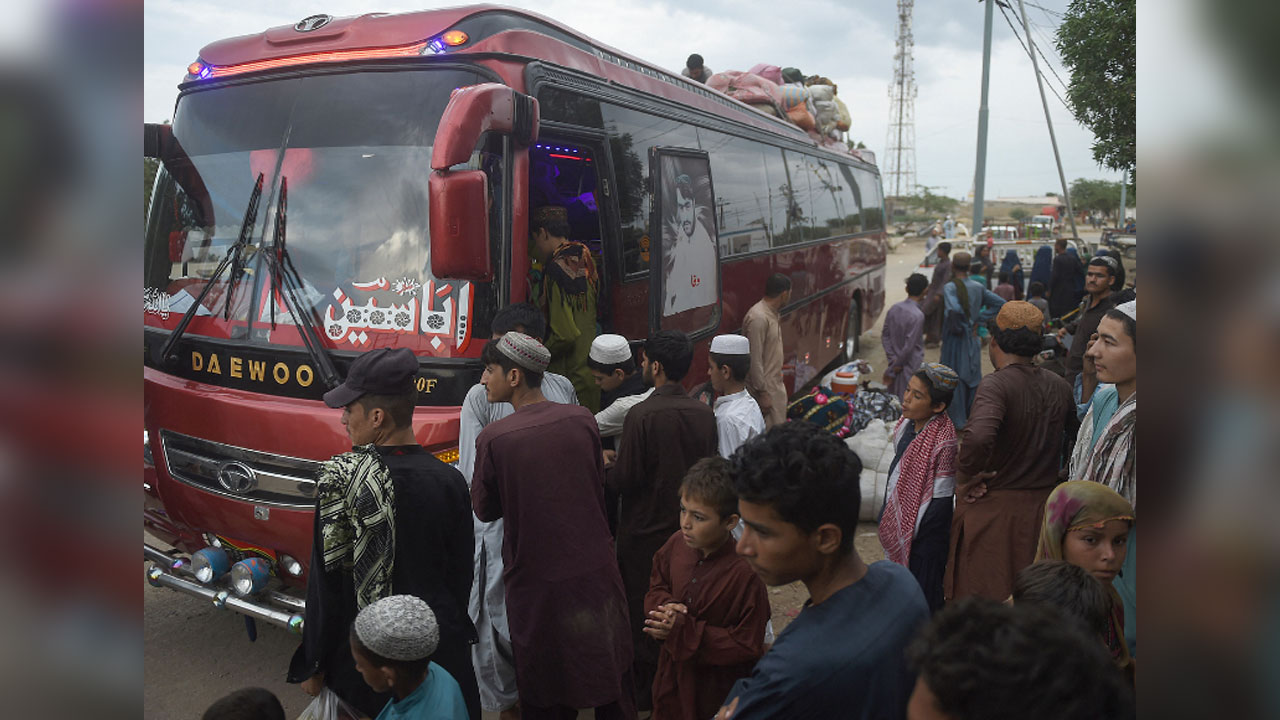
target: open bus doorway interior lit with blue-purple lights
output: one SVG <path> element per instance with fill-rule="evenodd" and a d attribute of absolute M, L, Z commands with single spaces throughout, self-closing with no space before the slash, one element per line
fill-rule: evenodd
<path fill-rule="evenodd" d="M 609 182 L 604 136 L 567 131 L 543 123 L 538 142 L 529 149 L 529 206 L 564 208 L 568 238 L 591 251 L 599 273 L 598 320 L 608 328 L 609 272 L 607 256 L 617 250 L 617 220 Z"/>

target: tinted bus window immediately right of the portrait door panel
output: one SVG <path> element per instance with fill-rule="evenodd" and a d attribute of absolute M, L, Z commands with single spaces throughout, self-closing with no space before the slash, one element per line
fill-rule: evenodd
<path fill-rule="evenodd" d="M 765 147 L 731 135 L 700 129 L 716 178 L 721 258 L 769 249 L 769 184 L 762 172 Z"/>

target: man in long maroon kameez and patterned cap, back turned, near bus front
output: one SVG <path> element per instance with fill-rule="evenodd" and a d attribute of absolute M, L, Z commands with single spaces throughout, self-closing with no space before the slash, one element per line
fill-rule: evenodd
<path fill-rule="evenodd" d="M 515 414 L 476 439 L 471 505 L 506 520 L 502 559 L 507 616 L 524 720 L 634 719 L 626 598 L 604 512 L 604 466 L 595 416 L 548 402 L 550 354 L 509 332 L 481 360 L 490 402 Z"/>

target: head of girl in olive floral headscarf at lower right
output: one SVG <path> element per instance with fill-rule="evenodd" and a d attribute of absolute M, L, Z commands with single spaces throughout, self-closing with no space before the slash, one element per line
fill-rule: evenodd
<path fill-rule="evenodd" d="M 1111 596 L 1111 623 L 1106 644 L 1116 665 L 1132 662 L 1124 642 L 1124 605 L 1111 580 L 1124 565 L 1133 505 L 1114 489 L 1089 480 L 1073 480 L 1053 488 L 1044 502 L 1036 561 L 1065 560 L 1088 570 Z"/>

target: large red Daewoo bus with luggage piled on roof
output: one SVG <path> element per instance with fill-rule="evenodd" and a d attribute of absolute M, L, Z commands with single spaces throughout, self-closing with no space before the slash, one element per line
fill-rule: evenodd
<path fill-rule="evenodd" d="M 320 396 L 408 347 L 417 439 L 456 460 L 489 320 L 526 299 L 531 204 L 596 254 L 603 332 L 695 340 L 690 387 L 772 273 L 792 392 L 883 307 L 869 154 L 536 14 L 314 15 L 188 73 L 146 135 L 145 525 L 179 551 L 145 543 L 155 584 L 301 626 L 315 470 L 348 448 Z"/>

